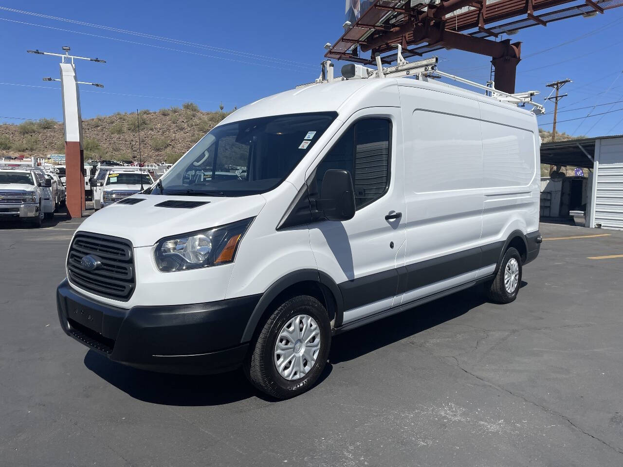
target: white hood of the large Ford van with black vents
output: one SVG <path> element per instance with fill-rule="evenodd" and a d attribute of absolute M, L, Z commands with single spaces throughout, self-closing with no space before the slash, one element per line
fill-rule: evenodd
<path fill-rule="evenodd" d="M 137 194 L 127 199 L 143 200 L 136 204 L 111 204 L 87 217 L 77 232 L 113 235 L 130 240 L 134 247 L 146 247 L 171 235 L 255 217 L 266 204 L 266 199 L 260 194 L 240 197 Z M 169 200 L 206 204 L 191 208 L 156 206 Z"/>

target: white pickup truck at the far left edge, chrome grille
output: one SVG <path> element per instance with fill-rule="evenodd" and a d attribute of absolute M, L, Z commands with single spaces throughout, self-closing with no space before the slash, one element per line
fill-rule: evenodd
<path fill-rule="evenodd" d="M 20 218 L 41 227 L 44 218 L 44 189 L 50 179 L 21 167 L 0 166 L 0 218 Z"/>

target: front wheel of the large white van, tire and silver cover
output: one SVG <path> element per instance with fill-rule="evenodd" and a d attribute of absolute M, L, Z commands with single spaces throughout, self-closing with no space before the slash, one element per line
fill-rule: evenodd
<path fill-rule="evenodd" d="M 245 364 L 250 382 L 265 394 L 288 399 L 316 382 L 331 346 L 326 309 L 312 296 L 298 295 L 273 311 Z"/>

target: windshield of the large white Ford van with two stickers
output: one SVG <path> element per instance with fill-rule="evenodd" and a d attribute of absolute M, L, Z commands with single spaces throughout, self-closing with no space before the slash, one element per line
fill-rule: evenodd
<path fill-rule="evenodd" d="M 278 115 L 217 126 L 153 192 L 246 196 L 280 184 L 335 120 L 335 112 Z"/>

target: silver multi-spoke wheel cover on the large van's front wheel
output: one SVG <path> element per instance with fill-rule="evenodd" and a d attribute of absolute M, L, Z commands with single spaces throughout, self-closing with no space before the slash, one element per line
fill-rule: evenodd
<path fill-rule="evenodd" d="M 316 363 L 320 352 L 320 328 L 315 319 L 299 314 L 288 321 L 275 343 L 274 361 L 284 379 L 305 377 Z"/>

